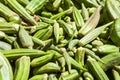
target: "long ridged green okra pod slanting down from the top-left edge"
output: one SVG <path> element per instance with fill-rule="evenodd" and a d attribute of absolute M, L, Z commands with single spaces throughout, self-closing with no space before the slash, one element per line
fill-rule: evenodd
<path fill-rule="evenodd" d="M 6 0 L 6 3 L 11 7 L 17 14 L 24 18 L 27 22 L 32 25 L 36 25 L 36 21 L 30 16 L 29 13 L 21 6 L 16 0 Z"/>

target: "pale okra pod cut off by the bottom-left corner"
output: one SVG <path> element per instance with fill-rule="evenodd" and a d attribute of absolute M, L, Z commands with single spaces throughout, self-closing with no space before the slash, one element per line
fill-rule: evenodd
<path fill-rule="evenodd" d="M 1 80 L 13 80 L 13 71 L 8 59 L 0 52 L 0 62 L 2 67 L 0 68 Z"/>

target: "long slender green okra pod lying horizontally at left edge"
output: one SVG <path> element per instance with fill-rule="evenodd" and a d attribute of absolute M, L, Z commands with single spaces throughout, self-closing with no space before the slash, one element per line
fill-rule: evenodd
<path fill-rule="evenodd" d="M 35 50 L 35 49 L 12 49 L 12 50 L 2 50 L 1 51 L 8 59 L 17 59 L 21 56 L 30 56 L 30 57 L 38 57 L 42 55 L 46 55 L 44 51 Z"/>

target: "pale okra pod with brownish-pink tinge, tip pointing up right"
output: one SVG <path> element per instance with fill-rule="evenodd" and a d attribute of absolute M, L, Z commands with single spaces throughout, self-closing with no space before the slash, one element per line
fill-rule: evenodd
<path fill-rule="evenodd" d="M 100 19 L 100 10 L 101 7 L 99 6 L 96 11 L 91 15 L 91 17 L 86 21 L 86 23 L 82 26 L 79 30 L 79 35 L 86 35 L 97 26 L 99 19 Z"/>

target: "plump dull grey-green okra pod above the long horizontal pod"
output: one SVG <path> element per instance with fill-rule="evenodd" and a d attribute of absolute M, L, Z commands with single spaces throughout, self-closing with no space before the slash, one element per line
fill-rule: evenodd
<path fill-rule="evenodd" d="M 19 27 L 19 32 L 18 32 L 18 36 L 20 39 L 20 42 L 22 43 L 23 47 L 27 47 L 32 49 L 34 43 L 32 41 L 31 36 L 28 34 L 28 32 L 23 28 L 23 26 Z"/>

